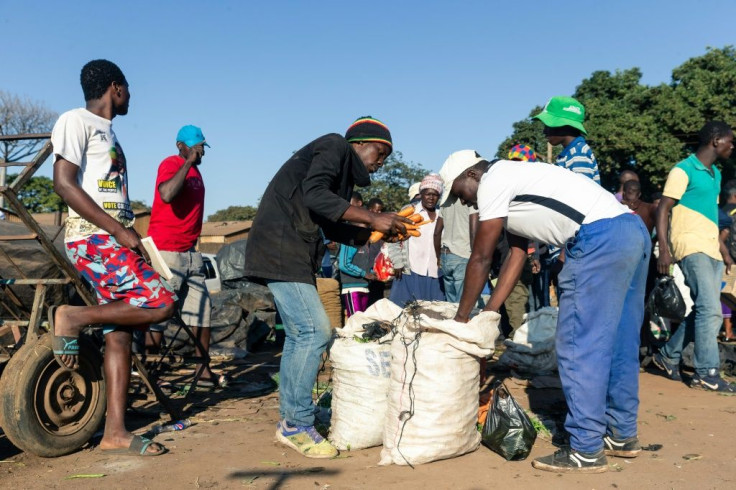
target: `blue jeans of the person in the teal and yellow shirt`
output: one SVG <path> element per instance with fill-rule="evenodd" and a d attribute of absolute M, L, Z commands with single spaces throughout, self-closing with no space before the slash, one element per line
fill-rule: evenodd
<path fill-rule="evenodd" d="M 700 376 L 718 375 L 721 361 L 716 336 L 723 322 L 720 300 L 723 262 L 695 253 L 680 260 L 678 265 L 685 276 L 685 284 L 690 288 L 693 310 L 659 352 L 677 364 L 682 357 L 682 349 L 694 341 L 695 372 Z"/>

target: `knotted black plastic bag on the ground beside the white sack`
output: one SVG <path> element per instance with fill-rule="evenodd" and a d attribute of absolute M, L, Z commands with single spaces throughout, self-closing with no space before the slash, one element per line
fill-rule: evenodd
<path fill-rule="evenodd" d="M 521 461 L 529 456 L 537 439 L 537 430 L 524 409 L 502 382 L 493 389 L 491 407 L 483 425 L 483 445 L 506 458 Z"/>

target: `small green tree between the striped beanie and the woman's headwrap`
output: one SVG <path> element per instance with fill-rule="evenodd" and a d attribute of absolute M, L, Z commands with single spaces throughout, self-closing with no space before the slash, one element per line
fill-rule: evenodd
<path fill-rule="evenodd" d="M 371 175 L 371 185 L 357 189 L 363 202 L 377 197 L 383 201 L 386 211 L 398 211 L 409 202 L 409 187 L 427 175 L 421 164 L 404 161 L 400 151 L 393 152 L 383 163 L 381 169 Z"/>

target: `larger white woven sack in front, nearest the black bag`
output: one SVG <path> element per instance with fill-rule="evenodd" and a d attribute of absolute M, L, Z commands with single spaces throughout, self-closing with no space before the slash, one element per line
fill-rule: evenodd
<path fill-rule="evenodd" d="M 500 315 L 457 323 L 457 306 L 419 301 L 398 322 L 381 465 L 452 458 L 480 444 L 478 359 L 493 352 Z"/>

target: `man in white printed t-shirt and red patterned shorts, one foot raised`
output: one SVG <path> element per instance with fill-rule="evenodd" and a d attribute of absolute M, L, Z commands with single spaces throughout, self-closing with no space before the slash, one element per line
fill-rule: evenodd
<path fill-rule="evenodd" d="M 132 332 L 174 313 L 176 295 L 143 257 L 133 230 L 127 162 L 112 119 L 128 113 L 128 82 L 114 63 L 90 61 L 82 68 L 86 107 L 59 117 L 51 133 L 54 190 L 69 206 L 67 256 L 94 289 L 99 305 L 49 309 L 52 350 L 59 364 L 79 365 L 79 332 L 102 324 L 107 418 L 100 449 L 158 456 L 166 448 L 125 428 Z"/>

